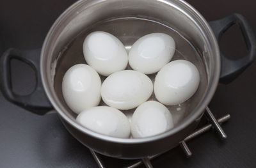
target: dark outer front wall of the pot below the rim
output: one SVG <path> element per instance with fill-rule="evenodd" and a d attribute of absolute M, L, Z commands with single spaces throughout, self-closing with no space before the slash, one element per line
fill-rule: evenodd
<path fill-rule="evenodd" d="M 139 142 L 111 142 L 111 141 L 102 141 L 102 139 L 93 138 L 90 134 L 84 134 L 74 128 L 73 125 L 70 125 L 61 118 L 64 126 L 67 130 L 72 134 L 76 139 L 84 144 L 84 146 L 93 149 L 95 152 L 100 153 L 102 155 L 106 155 L 108 157 L 115 158 L 125 158 L 125 159 L 136 159 L 136 158 L 144 158 L 150 155 L 156 155 L 157 153 L 164 153 L 169 149 L 174 148 L 179 145 L 179 142 L 186 137 L 186 135 L 190 134 L 195 130 L 198 123 L 191 123 L 186 128 L 180 130 L 179 134 L 173 134 L 172 137 L 164 137 L 162 139 L 157 139 L 156 141 L 145 141 Z M 183 137 L 184 135 L 184 137 Z M 120 139 L 120 141 L 131 141 L 140 139 Z M 166 147 L 168 146 L 168 147 Z"/>

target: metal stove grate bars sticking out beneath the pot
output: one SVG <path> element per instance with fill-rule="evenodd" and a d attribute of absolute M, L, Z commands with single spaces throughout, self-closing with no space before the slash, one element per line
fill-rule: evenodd
<path fill-rule="evenodd" d="M 199 128 L 198 130 L 195 130 L 195 132 L 193 132 L 192 134 L 188 135 L 188 137 L 186 137 L 183 141 L 180 142 L 180 147 L 183 149 L 184 153 L 186 154 L 187 157 L 191 157 L 192 153 L 190 151 L 190 149 L 188 148 L 188 145 L 186 144 L 187 141 L 198 137 L 198 135 L 203 134 L 204 132 L 207 132 L 208 130 L 211 130 L 211 128 L 214 128 L 214 130 L 216 130 L 218 132 L 218 134 L 220 135 L 221 139 L 227 139 L 227 135 L 225 134 L 225 132 L 223 131 L 223 128 L 220 126 L 221 123 L 224 123 L 225 121 L 228 121 L 228 119 L 230 119 L 230 114 L 227 114 L 219 119 L 216 119 L 214 117 L 214 115 L 212 114 L 211 110 L 209 109 L 209 107 L 205 108 L 205 114 L 207 116 L 207 118 L 209 118 L 209 124 L 203 126 L 202 128 Z M 100 156 L 98 153 L 96 153 L 95 151 L 93 151 L 92 149 L 90 149 L 93 158 L 95 159 L 95 162 L 97 162 L 97 164 L 99 165 L 100 168 L 106 168 L 106 166 L 104 165 L 104 163 L 102 162 L 102 160 L 100 160 Z M 159 157 L 159 155 L 154 155 L 151 157 L 147 157 L 147 158 L 142 158 L 139 162 L 136 162 L 135 164 L 131 164 L 127 167 L 124 168 L 134 168 L 134 167 L 138 167 L 141 164 L 144 164 L 145 167 L 147 168 L 153 168 L 150 160 L 152 160 L 153 158 Z"/>

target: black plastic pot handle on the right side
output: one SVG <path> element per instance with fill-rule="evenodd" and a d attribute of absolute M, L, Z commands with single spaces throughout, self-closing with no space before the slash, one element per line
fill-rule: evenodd
<path fill-rule="evenodd" d="M 220 20 L 209 22 L 214 34 L 220 42 L 221 36 L 232 25 L 237 24 L 244 37 L 244 42 L 248 49 L 248 55 L 238 60 L 231 60 L 224 56 L 221 52 L 221 74 L 220 82 L 228 84 L 236 79 L 252 62 L 256 55 L 256 39 L 253 29 L 242 15 L 234 13 Z"/>

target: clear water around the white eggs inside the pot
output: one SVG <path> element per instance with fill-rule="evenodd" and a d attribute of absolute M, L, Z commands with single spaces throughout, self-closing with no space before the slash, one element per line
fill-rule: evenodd
<path fill-rule="evenodd" d="M 117 19 L 108 19 L 102 22 L 98 22 L 90 27 L 85 27 L 84 30 L 74 37 L 74 40 L 70 42 L 65 50 L 61 52 L 60 57 L 58 58 L 55 75 L 54 75 L 54 89 L 58 95 L 58 98 L 61 100 L 61 103 L 65 107 L 67 104 L 63 99 L 61 91 L 61 82 L 65 72 L 68 68 L 78 63 L 86 63 L 83 56 L 83 41 L 84 38 L 92 33 L 93 31 L 106 31 L 108 33 L 116 36 L 122 43 L 124 43 L 125 49 L 129 52 L 131 46 L 138 38 L 149 33 L 166 33 L 173 37 L 176 43 L 176 51 L 171 61 L 176 59 L 186 59 L 193 63 L 200 73 L 200 85 L 195 95 L 193 95 L 189 100 L 180 105 L 167 106 L 170 112 L 172 112 L 175 125 L 182 121 L 183 118 L 188 116 L 189 112 L 195 109 L 196 105 L 200 102 L 205 88 L 207 86 L 207 73 L 205 71 L 204 61 L 200 57 L 200 53 L 196 48 L 190 43 L 179 31 L 168 27 L 161 22 L 157 22 L 151 19 L 144 19 L 143 17 L 122 17 Z M 128 65 L 127 70 L 131 69 Z M 156 73 L 148 75 L 152 82 Z M 100 76 L 102 82 L 106 77 Z M 150 97 L 150 100 L 156 100 L 156 97 L 153 95 Z M 100 105 L 106 105 L 104 102 L 100 102 Z M 67 109 L 69 109 L 67 107 Z M 132 113 L 135 109 L 129 111 L 122 111 L 124 114 L 131 119 Z M 76 118 L 76 114 L 70 109 L 70 114 Z"/>

